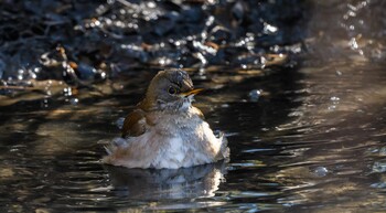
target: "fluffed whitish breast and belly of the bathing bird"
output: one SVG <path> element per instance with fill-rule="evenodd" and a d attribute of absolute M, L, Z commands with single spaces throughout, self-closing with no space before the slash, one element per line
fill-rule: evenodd
<path fill-rule="evenodd" d="M 221 139 L 194 108 L 187 113 L 157 111 L 147 119 L 152 124 L 143 135 L 132 138 L 130 146 L 147 150 L 149 167 L 180 168 L 215 161 Z"/>

